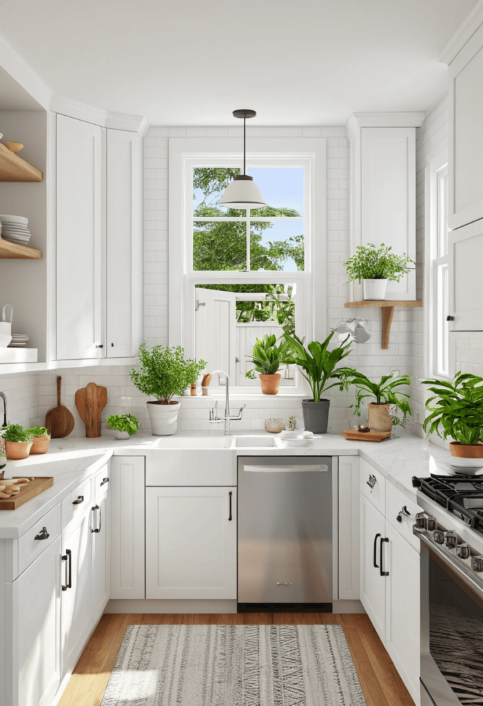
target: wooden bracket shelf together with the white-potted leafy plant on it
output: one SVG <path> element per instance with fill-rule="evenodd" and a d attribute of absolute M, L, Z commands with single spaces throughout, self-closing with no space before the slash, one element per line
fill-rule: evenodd
<path fill-rule="evenodd" d="M 382 337 L 381 348 L 389 348 L 389 337 L 391 335 L 391 324 L 393 322 L 394 309 L 396 306 L 419 307 L 422 301 L 384 299 L 386 287 L 389 280 L 399 282 L 401 277 L 410 272 L 410 263 L 415 262 L 408 258 L 405 253 L 396 255 L 391 252 L 391 246 L 381 244 L 379 248 L 370 244 L 367 246 L 357 246 L 355 253 L 351 256 L 346 266 L 349 275 L 348 282 L 359 284 L 362 282 L 364 299 L 362 301 L 346 301 L 346 308 L 360 309 L 362 307 L 377 307 L 381 309 L 382 316 Z"/>

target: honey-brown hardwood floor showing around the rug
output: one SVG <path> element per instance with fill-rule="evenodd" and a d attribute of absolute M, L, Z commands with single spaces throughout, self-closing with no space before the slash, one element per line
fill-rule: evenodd
<path fill-rule="evenodd" d="M 408 690 L 365 614 L 106 614 L 82 652 L 59 706 L 99 706 L 128 625 L 341 625 L 367 706 L 414 706 Z M 325 706 L 331 706 L 326 704 Z"/>

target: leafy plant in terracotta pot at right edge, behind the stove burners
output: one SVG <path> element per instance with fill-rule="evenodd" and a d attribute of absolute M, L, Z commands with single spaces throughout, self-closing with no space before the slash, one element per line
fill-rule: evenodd
<path fill-rule="evenodd" d="M 430 414 L 424 419 L 424 431 L 453 439 L 452 456 L 483 458 L 483 378 L 460 371 L 451 381 L 424 380 L 423 385 L 431 385 L 433 393 L 426 401 Z"/>

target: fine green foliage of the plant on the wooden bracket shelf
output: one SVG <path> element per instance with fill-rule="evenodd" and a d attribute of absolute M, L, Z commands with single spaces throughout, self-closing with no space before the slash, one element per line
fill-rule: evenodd
<path fill-rule="evenodd" d="M 359 245 L 355 253 L 344 263 L 348 274 L 348 282 L 355 280 L 393 280 L 399 282 L 401 277 L 410 272 L 415 262 L 405 253 L 396 255 L 391 252 L 391 246 L 381 244 L 377 248 L 374 244 Z"/>

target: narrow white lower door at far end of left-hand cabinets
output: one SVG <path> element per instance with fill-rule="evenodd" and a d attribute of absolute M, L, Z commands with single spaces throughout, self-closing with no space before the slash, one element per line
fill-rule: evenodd
<path fill-rule="evenodd" d="M 90 511 L 92 556 L 92 620 L 97 621 L 111 593 L 111 494 L 97 500 Z"/>

